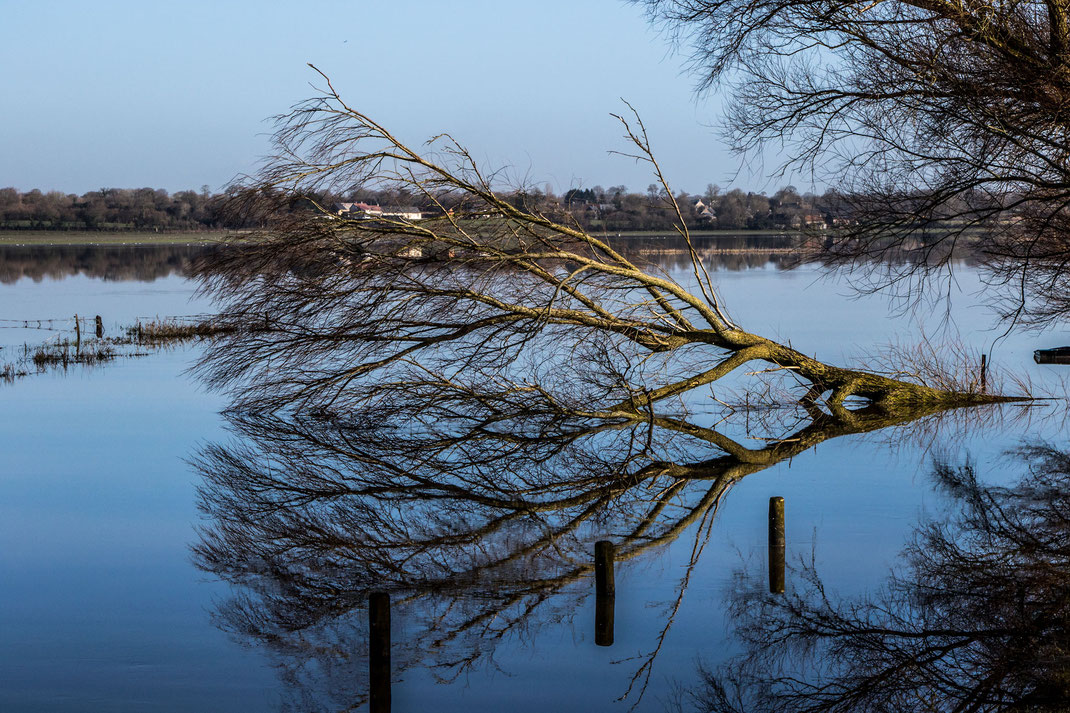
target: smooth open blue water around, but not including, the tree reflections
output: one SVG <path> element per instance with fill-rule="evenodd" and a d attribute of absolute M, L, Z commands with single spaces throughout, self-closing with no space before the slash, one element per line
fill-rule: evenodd
<path fill-rule="evenodd" d="M 148 267 L 153 260 L 135 252 L 54 258 L 0 254 L 0 361 L 68 329 L 74 314 L 100 314 L 110 332 L 211 310 L 184 277 L 186 256 Z M 939 314 L 903 318 L 881 299 L 849 300 L 812 270 L 735 267 L 744 269 L 715 277 L 736 320 L 827 361 L 921 332 L 948 335 Z M 956 338 L 1057 388 L 1059 367 L 1035 365 L 1031 352 L 1070 337 L 1012 335 L 993 349 L 997 333 L 975 306 L 975 285 L 964 268 Z M 0 710 L 333 711 L 366 694 L 367 610 L 347 600 L 345 572 L 310 557 L 301 581 L 296 570 L 280 578 L 270 561 L 254 561 L 263 543 L 242 540 L 256 527 L 230 541 L 247 548 L 227 560 L 254 572 L 251 587 L 221 582 L 226 572 L 193 553 L 203 528 L 220 525 L 199 514 L 198 492 L 240 488 L 205 482 L 190 460 L 212 443 L 264 447 L 242 441 L 256 429 L 250 437 L 228 424 L 225 398 L 186 374 L 198 353 L 193 346 L 0 384 Z M 827 591 L 854 596 L 883 586 L 919 522 L 959 506 L 936 486 L 934 455 L 968 457 L 984 481 L 1009 484 L 1023 469 L 1003 452 L 1034 439 L 1065 446 L 1061 405 L 1024 416 L 1007 409 L 968 427 L 952 419 L 832 438 L 747 475 L 716 512 L 651 535 L 617 563 L 610 647 L 596 644 L 594 577 L 577 551 L 620 538 L 626 513 L 577 534 L 585 540 L 578 550 L 563 546 L 562 562 L 518 568 L 508 586 L 396 596 L 394 710 L 664 710 L 699 682 L 700 663 L 716 667 L 740 651 L 727 606 L 740 587 L 765 587 L 770 497 L 785 499 L 789 561 L 812 557 Z M 799 586 L 793 576 L 789 590 Z M 550 579 L 538 591 L 521 586 Z"/>

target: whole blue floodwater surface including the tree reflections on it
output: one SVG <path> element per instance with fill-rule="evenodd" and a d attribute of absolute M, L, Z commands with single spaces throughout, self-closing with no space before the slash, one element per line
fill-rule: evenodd
<path fill-rule="evenodd" d="M 195 255 L 0 251 L 0 362 L 67 336 L 76 314 L 101 315 L 106 334 L 211 314 L 187 277 Z M 760 333 L 835 363 L 953 340 L 1065 393 L 1067 367 L 1031 356 L 1070 339 L 997 340 L 968 266 L 948 318 L 849 299 L 770 259 L 707 257 Z M 0 383 L 0 710 L 690 711 L 722 693 L 765 706 L 763 689 L 792 685 L 801 707 L 830 689 L 782 673 L 823 667 L 886 703 L 875 681 L 911 657 L 929 663 L 889 680 L 919 696 L 989 685 L 1048 710 L 1061 695 L 1052 652 L 1070 620 L 1049 576 L 1070 540 L 1061 400 L 728 426 L 710 408 L 728 397 L 707 391 L 637 428 L 523 404 L 495 418 L 513 435 L 538 421 L 541 439 L 480 431 L 446 447 L 438 412 L 395 423 L 418 411 L 407 404 L 377 412 L 388 431 L 228 410 L 189 373 L 204 348 Z M 867 626 L 895 631 L 847 636 Z"/>

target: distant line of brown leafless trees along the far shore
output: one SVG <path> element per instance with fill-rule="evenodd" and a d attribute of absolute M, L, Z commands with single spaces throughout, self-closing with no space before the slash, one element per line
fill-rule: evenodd
<path fill-rule="evenodd" d="M 549 188 L 514 191 L 510 202 L 570 218 L 586 230 L 621 232 L 669 230 L 677 218 L 666 201 L 663 189 L 652 185 L 645 193 L 626 186 L 572 188 L 557 196 Z M 239 213 L 227 210 L 226 193 L 160 188 L 101 188 L 80 196 L 39 189 L 26 193 L 0 188 L 0 229 L 4 230 L 215 230 L 250 227 Z M 317 197 L 328 208 L 338 201 L 363 201 L 378 206 L 412 206 L 425 215 L 462 208 L 460 198 L 439 196 L 438 202 L 398 191 L 354 189 Z M 822 228 L 844 219 L 843 201 L 832 192 L 799 194 L 794 186 L 771 196 L 739 188 L 722 192 L 716 185 L 705 193 L 679 193 L 676 200 L 691 229 L 770 230 Z M 294 210 L 310 206 L 294 206 Z"/>

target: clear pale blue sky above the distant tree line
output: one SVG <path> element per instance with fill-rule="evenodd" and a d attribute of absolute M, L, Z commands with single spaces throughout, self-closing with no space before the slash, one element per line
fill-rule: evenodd
<path fill-rule="evenodd" d="M 0 186 L 218 189 L 268 151 L 266 118 L 327 73 L 418 143 L 448 131 L 536 185 L 625 184 L 645 167 L 610 118 L 643 116 L 677 188 L 776 188 L 716 132 L 685 58 L 622 0 L 181 3 L 0 0 Z M 804 187 L 804 186 L 800 186 Z"/>

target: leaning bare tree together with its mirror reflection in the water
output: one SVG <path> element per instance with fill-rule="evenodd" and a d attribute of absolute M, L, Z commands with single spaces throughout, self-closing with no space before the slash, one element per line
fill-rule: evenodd
<path fill-rule="evenodd" d="M 748 473 L 1009 400 L 968 379 L 832 366 L 743 329 L 641 122 L 621 122 L 679 218 L 686 275 L 504 192 L 448 136 L 409 148 L 330 84 L 279 119 L 276 156 L 230 191 L 263 228 L 199 267 L 234 328 L 200 368 L 232 390 L 244 440 L 199 459 L 210 521 L 196 556 L 244 589 L 220 620 L 274 651 L 295 688 L 353 702 L 363 669 L 347 652 L 372 589 L 426 622 L 398 665 L 456 676 L 532 612 L 568 616 L 597 536 L 625 560 L 699 537 Z M 362 187 L 415 196 L 425 216 L 332 204 Z"/>

